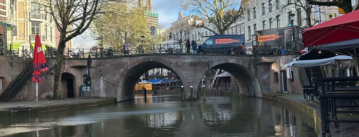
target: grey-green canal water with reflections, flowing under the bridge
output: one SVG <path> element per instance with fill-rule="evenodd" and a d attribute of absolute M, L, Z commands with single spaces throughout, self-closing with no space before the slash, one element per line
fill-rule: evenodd
<path fill-rule="evenodd" d="M 114 105 L 0 118 L 0 136 L 317 136 L 306 119 L 291 107 L 260 98 L 181 102 L 179 96 L 148 95 L 146 102 L 135 97 Z"/>

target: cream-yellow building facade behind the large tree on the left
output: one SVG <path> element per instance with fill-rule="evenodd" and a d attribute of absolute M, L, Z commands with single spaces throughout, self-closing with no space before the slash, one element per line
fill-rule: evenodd
<path fill-rule="evenodd" d="M 56 29 L 52 16 L 41 5 L 42 3 L 30 0 L 7 1 L 5 18 L 9 25 L 5 43 L 8 50 L 11 48 L 19 52 L 19 55 L 25 50 L 32 50 L 37 33 L 41 36 L 44 51 L 57 49 L 60 32 Z M 66 49 L 71 49 L 72 44 L 72 40 L 68 41 Z"/>

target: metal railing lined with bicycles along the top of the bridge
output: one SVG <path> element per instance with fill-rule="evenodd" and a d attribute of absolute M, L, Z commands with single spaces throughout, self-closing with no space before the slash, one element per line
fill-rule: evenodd
<path fill-rule="evenodd" d="M 263 49 L 264 48 L 264 49 Z M 279 54 L 281 50 L 286 49 L 283 45 L 274 45 L 266 47 L 254 46 L 253 50 L 245 49 L 247 54 Z M 278 53 L 276 53 L 278 52 Z M 285 50 L 285 52 L 289 52 Z M 11 55 L 20 57 L 32 58 L 33 51 L 21 48 L 13 50 L 12 52 L 3 50 L 0 55 Z M 44 50 L 45 57 L 55 57 L 57 50 L 52 47 L 46 47 Z M 106 47 L 106 48 L 76 48 L 76 49 L 64 49 L 64 56 L 66 58 L 87 58 L 90 54 L 92 58 L 99 57 L 115 57 L 115 56 L 127 56 L 136 54 L 176 54 L 176 53 L 187 53 L 187 49 L 184 44 L 144 44 L 144 45 L 132 45 L 130 47 L 119 46 L 119 47 Z M 192 47 L 190 52 L 193 53 Z M 224 52 L 223 52 L 224 53 Z"/>

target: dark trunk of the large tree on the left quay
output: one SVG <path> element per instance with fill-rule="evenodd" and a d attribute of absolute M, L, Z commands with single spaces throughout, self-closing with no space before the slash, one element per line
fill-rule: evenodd
<path fill-rule="evenodd" d="M 54 65 L 54 79 L 53 79 L 53 97 L 52 99 L 63 99 L 62 88 L 61 88 L 61 76 L 64 62 L 64 49 L 65 42 L 60 39 L 58 45 L 58 52 L 56 54 L 56 62 Z"/>

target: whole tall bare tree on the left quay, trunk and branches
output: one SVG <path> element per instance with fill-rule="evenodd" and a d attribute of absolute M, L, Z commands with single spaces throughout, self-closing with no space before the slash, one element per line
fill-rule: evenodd
<path fill-rule="evenodd" d="M 62 99 L 63 94 L 61 90 L 61 75 L 64 59 L 65 43 L 75 36 L 81 35 L 85 32 L 90 24 L 101 15 L 111 13 L 107 6 L 111 0 L 46 0 L 43 6 L 56 24 L 59 30 L 60 38 L 58 45 L 58 54 L 56 54 L 56 61 L 54 64 L 54 91 L 53 99 Z"/>

